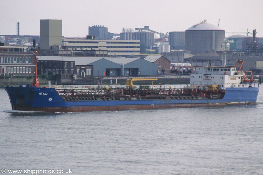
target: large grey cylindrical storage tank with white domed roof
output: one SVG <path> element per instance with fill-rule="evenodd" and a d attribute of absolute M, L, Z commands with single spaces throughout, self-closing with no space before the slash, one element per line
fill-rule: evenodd
<path fill-rule="evenodd" d="M 185 49 L 193 53 L 222 51 L 224 42 L 225 31 L 217 25 L 208 24 L 206 20 L 185 31 Z"/>

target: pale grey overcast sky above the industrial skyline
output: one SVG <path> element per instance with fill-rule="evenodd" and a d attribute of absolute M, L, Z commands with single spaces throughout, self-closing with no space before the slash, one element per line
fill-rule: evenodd
<path fill-rule="evenodd" d="M 185 31 L 202 22 L 226 32 L 256 29 L 263 37 L 262 0 L 0 0 L 0 35 L 39 35 L 40 19 L 62 20 L 62 35 L 86 37 L 93 24 L 120 33 L 122 28 L 150 26 L 158 32 Z M 250 31 L 251 32 L 251 31 Z M 230 36 L 233 34 L 226 34 Z M 244 34 L 245 35 L 245 34 Z M 159 37 L 159 36 L 158 36 Z"/>

